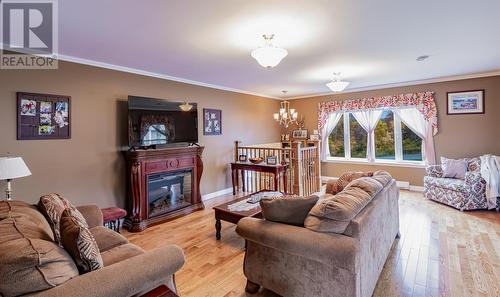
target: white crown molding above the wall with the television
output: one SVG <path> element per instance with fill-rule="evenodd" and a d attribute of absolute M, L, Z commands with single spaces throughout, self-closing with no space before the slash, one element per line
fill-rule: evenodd
<path fill-rule="evenodd" d="M 190 84 L 190 85 L 195 85 L 195 86 L 200 86 L 200 87 L 206 87 L 206 88 L 217 89 L 217 90 L 222 90 L 222 91 L 258 96 L 258 97 L 263 97 L 263 98 L 267 98 L 267 99 L 280 100 L 280 98 L 278 98 L 278 97 L 264 95 L 264 94 L 260 94 L 260 93 L 256 93 L 256 92 L 245 91 L 245 90 L 234 89 L 234 88 L 229 88 L 229 87 L 215 85 L 215 84 L 204 83 L 204 82 L 200 82 L 200 81 L 196 81 L 196 80 L 190 80 L 190 79 L 186 79 L 186 78 L 182 78 L 182 77 L 176 77 L 176 76 L 170 76 L 170 75 L 151 72 L 151 71 L 145 71 L 145 70 L 141 70 L 141 69 L 137 69 L 137 68 L 119 66 L 119 65 L 115 65 L 115 64 L 109 64 L 109 63 L 104 63 L 104 62 L 99 62 L 99 61 L 94 61 L 94 60 L 89 60 L 89 59 L 68 56 L 68 55 L 57 54 L 56 56 L 57 56 L 58 60 L 62 60 L 62 61 L 66 61 L 66 62 L 78 63 L 78 64 L 83 64 L 83 65 L 88 65 L 88 66 L 99 67 L 99 68 L 106 68 L 106 69 L 127 72 L 127 73 L 132 73 L 132 74 L 138 74 L 138 75 L 143 75 L 143 76 L 149 76 L 149 77 L 154 77 L 154 78 L 160 78 L 160 79 L 165 79 L 165 80 L 170 80 L 170 81 L 175 81 L 175 82 L 180 82 L 180 83 L 185 83 L 185 84 Z"/>

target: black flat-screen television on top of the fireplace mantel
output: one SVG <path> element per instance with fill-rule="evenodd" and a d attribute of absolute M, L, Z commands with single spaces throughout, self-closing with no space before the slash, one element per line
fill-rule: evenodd
<path fill-rule="evenodd" d="M 198 109 L 182 111 L 182 102 L 128 96 L 128 139 L 132 147 L 198 142 Z"/>

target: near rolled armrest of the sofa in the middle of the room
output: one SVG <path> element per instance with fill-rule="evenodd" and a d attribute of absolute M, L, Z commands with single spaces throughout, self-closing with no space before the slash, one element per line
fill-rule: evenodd
<path fill-rule="evenodd" d="M 246 240 L 296 256 L 356 271 L 359 243 L 342 234 L 314 232 L 304 227 L 243 218 L 236 232 Z"/>

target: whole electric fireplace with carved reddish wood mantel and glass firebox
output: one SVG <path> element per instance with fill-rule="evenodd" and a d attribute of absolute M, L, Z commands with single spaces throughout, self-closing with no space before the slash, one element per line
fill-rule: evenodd
<path fill-rule="evenodd" d="M 203 147 L 129 150 L 127 209 L 124 226 L 139 232 L 203 209 L 200 180 Z"/>

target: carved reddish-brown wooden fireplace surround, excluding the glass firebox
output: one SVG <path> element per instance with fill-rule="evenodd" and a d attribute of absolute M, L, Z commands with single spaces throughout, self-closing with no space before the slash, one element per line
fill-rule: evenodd
<path fill-rule="evenodd" d="M 174 147 L 124 152 L 127 160 L 127 207 L 124 226 L 140 232 L 152 224 L 162 223 L 196 210 L 203 209 L 200 180 L 203 173 L 203 147 Z M 148 176 L 192 170 L 191 205 L 160 215 L 150 216 Z"/>

